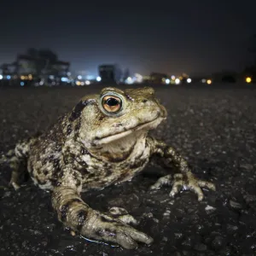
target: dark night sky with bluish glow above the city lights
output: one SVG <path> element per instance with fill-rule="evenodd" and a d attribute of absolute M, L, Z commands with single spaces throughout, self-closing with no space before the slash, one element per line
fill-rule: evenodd
<path fill-rule="evenodd" d="M 113 62 L 143 74 L 241 70 L 255 13 L 255 0 L 9 0 L 0 9 L 0 63 L 41 47 L 89 74 Z"/>

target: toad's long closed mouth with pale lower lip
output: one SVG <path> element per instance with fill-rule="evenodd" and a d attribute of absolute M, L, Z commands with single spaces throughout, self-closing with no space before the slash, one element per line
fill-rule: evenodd
<path fill-rule="evenodd" d="M 95 144 L 96 145 L 102 145 L 102 144 L 111 143 L 111 142 L 116 141 L 116 140 L 118 140 L 122 137 L 129 136 L 129 135 L 131 135 L 131 133 L 141 131 L 144 128 L 148 128 L 147 130 L 154 129 L 164 119 L 166 119 L 166 118 L 158 116 L 155 119 L 153 119 L 151 121 L 148 121 L 147 123 L 144 123 L 143 125 L 137 125 L 137 126 L 131 127 L 129 130 L 126 130 L 126 131 L 120 131 L 120 132 L 115 133 L 113 135 L 108 135 L 106 137 L 97 138 L 95 140 Z"/>

